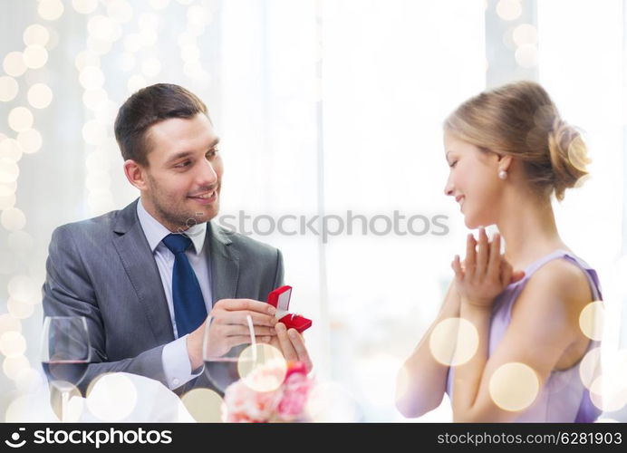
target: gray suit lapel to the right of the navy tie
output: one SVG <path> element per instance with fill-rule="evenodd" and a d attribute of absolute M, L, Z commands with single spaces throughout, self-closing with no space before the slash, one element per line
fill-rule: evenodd
<path fill-rule="evenodd" d="M 239 254 L 231 240 L 217 225 L 207 222 L 209 236 L 209 269 L 211 269 L 211 298 L 213 304 L 220 299 L 233 299 L 237 295 Z"/>

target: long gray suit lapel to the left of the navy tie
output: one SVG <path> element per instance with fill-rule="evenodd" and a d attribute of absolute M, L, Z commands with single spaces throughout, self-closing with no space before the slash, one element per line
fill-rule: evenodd
<path fill-rule="evenodd" d="M 120 255 L 155 339 L 163 344 L 174 340 L 174 332 L 159 269 L 137 217 L 137 203 L 135 200 L 120 211 L 113 226 L 113 231 L 118 234 L 113 238 L 113 246 Z"/>

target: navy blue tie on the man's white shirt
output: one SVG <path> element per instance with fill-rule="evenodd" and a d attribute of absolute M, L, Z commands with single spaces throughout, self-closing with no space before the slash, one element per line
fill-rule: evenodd
<path fill-rule="evenodd" d="M 185 235 L 170 234 L 163 238 L 163 244 L 174 254 L 172 303 L 180 338 L 186 333 L 195 331 L 205 321 L 207 308 L 198 278 L 185 255 L 185 251 L 191 246 L 191 239 Z"/>

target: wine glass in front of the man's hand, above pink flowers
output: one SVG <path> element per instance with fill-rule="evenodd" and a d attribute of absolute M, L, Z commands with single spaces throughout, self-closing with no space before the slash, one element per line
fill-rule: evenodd
<path fill-rule="evenodd" d="M 219 338 L 217 334 L 218 326 L 215 323 L 215 318 L 207 317 L 202 348 L 205 373 L 209 381 L 222 393 L 227 390 L 230 384 L 241 377 L 242 361 L 254 361 L 256 359 L 255 329 L 249 314 L 246 315 L 246 323 L 247 333 L 243 335 L 245 338 L 240 339 L 240 344 L 229 347 L 224 345 L 223 339 Z M 240 357 L 240 354 L 248 346 L 252 346 L 252 355 L 244 354 Z"/>

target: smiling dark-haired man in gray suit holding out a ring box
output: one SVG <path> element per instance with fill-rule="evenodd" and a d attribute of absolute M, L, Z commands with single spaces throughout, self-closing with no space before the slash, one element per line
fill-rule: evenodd
<path fill-rule="evenodd" d="M 178 85 L 152 85 L 121 106 L 115 136 L 140 198 L 56 228 L 46 263 L 45 315 L 87 319 L 92 363 L 79 387 L 109 371 L 178 394 L 210 386 L 202 372 L 207 313 L 216 351 L 250 341 L 250 316 L 257 341 L 311 369 L 302 336 L 260 302 L 283 284 L 281 253 L 210 222 L 223 163 L 205 104 Z"/>

